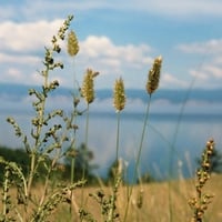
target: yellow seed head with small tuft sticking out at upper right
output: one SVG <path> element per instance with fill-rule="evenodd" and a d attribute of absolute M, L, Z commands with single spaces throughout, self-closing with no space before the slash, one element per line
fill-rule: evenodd
<path fill-rule="evenodd" d="M 84 74 L 84 79 L 83 79 L 83 83 L 82 83 L 82 88 L 81 88 L 81 94 L 88 104 L 93 102 L 93 100 L 94 100 L 94 81 L 93 81 L 93 79 L 98 74 L 99 74 L 99 72 L 94 72 L 91 69 L 88 69 Z"/>

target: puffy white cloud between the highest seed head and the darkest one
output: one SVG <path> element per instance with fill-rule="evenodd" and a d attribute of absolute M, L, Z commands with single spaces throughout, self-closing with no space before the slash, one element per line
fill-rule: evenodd
<path fill-rule="evenodd" d="M 89 36 L 80 42 L 81 63 L 91 62 L 103 73 L 123 73 L 128 69 L 141 70 L 150 65 L 152 49 L 148 44 L 118 46 L 108 37 Z"/>

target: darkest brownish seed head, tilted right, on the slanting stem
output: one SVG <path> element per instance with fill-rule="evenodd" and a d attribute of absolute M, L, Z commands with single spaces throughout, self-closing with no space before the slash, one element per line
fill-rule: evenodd
<path fill-rule="evenodd" d="M 154 59 L 153 67 L 149 71 L 148 82 L 147 82 L 147 91 L 151 95 L 159 87 L 160 81 L 160 72 L 162 65 L 162 57 L 158 57 Z"/>

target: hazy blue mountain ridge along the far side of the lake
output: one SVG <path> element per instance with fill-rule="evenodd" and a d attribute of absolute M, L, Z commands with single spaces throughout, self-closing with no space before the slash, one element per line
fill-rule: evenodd
<path fill-rule="evenodd" d="M 40 87 L 26 85 L 26 84 L 10 84 L 0 83 L 0 98 L 9 100 L 19 100 L 28 95 L 29 89 L 40 89 Z M 51 95 L 71 97 L 72 89 L 59 87 Z M 105 100 L 112 98 L 112 89 L 99 89 L 95 90 L 97 99 Z M 127 97 L 129 99 L 148 100 L 145 90 L 142 89 L 127 89 Z M 222 89 L 192 89 L 190 92 L 185 89 L 160 89 L 153 94 L 153 100 L 168 100 L 171 103 L 183 102 L 189 95 L 189 100 L 216 102 L 222 103 Z"/>

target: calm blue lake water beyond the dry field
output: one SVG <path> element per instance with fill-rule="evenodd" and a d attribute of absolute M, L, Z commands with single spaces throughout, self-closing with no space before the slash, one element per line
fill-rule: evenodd
<path fill-rule="evenodd" d="M 0 143 L 10 148 L 21 147 L 13 135 L 12 127 L 0 115 Z M 14 115 L 13 115 L 14 117 Z M 120 157 L 132 174 L 143 127 L 143 114 L 122 113 L 120 122 Z M 16 117 L 24 132 L 29 133 L 30 117 Z M 84 117 L 78 119 L 77 143 L 84 142 Z M 151 172 L 157 178 L 169 175 L 169 162 L 173 161 L 173 174 L 190 176 L 195 169 L 195 158 L 200 157 L 209 138 L 214 138 L 216 149 L 222 151 L 222 115 L 186 114 L 179 121 L 178 114 L 151 114 L 147 125 L 141 153 L 141 173 Z M 89 148 L 94 153 L 98 173 L 104 175 L 115 157 L 117 117 L 111 113 L 91 113 L 89 125 Z M 174 144 L 174 145 L 173 145 Z"/>

